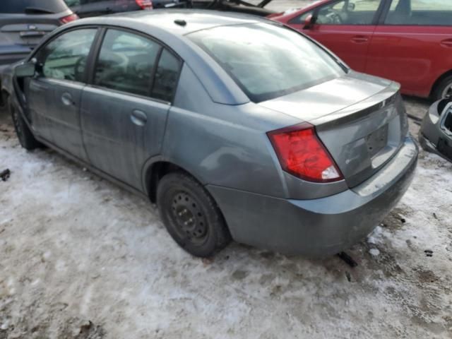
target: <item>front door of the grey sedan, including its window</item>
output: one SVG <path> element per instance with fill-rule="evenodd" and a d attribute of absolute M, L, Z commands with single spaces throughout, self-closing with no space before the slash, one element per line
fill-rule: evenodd
<path fill-rule="evenodd" d="M 87 160 L 80 128 L 85 66 L 97 28 L 64 32 L 37 53 L 37 73 L 25 95 L 34 129 L 46 141 Z"/>

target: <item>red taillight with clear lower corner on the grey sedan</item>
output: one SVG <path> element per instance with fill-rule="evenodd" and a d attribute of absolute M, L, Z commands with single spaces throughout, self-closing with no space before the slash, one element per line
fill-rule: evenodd
<path fill-rule="evenodd" d="M 343 179 L 340 169 L 316 135 L 314 126 L 304 123 L 267 133 L 281 167 L 310 182 Z"/>

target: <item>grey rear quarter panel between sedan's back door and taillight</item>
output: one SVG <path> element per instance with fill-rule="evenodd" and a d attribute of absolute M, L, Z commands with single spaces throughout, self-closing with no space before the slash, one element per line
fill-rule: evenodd
<path fill-rule="evenodd" d="M 213 102 L 184 65 L 162 155 L 202 184 L 283 197 L 287 196 L 283 172 L 266 131 L 297 123 L 299 119 L 253 103 Z"/>

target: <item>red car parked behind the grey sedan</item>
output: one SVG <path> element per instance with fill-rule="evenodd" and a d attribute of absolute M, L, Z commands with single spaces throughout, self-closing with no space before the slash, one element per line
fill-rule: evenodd
<path fill-rule="evenodd" d="M 270 15 L 407 95 L 452 94 L 452 0 L 320 0 Z"/>

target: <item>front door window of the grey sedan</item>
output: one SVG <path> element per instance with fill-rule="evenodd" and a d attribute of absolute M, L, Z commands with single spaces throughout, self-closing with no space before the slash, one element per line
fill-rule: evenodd
<path fill-rule="evenodd" d="M 82 82 L 96 32 L 94 28 L 72 30 L 49 42 L 37 55 L 42 76 Z"/>

